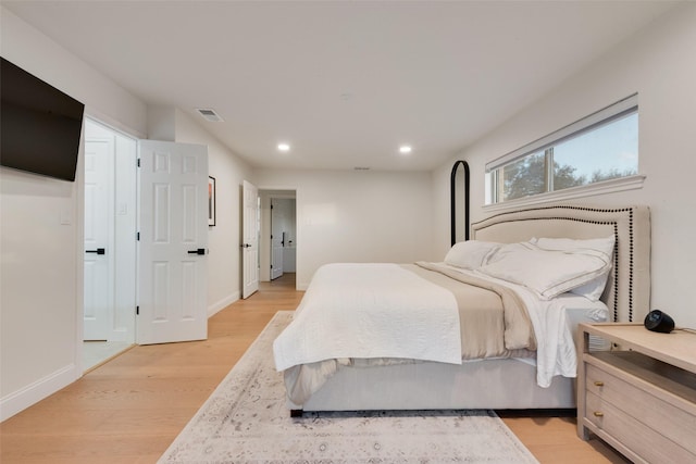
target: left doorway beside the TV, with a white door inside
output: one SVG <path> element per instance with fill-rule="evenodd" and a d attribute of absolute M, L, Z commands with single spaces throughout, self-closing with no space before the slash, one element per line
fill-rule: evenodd
<path fill-rule="evenodd" d="M 135 342 L 137 139 L 85 118 L 83 371 Z"/>

